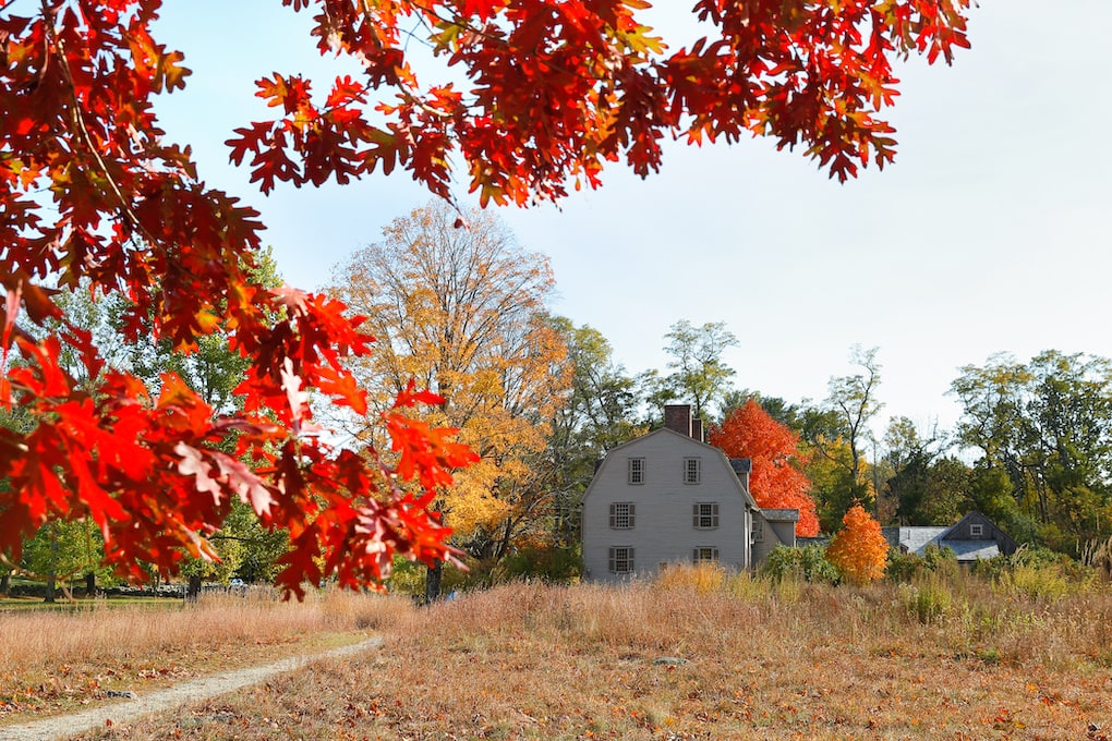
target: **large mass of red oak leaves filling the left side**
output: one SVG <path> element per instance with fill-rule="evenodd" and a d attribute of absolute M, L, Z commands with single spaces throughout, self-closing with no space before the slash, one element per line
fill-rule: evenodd
<path fill-rule="evenodd" d="M 148 33 L 157 7 L 46 2 L 37 18 L 0 18 L 0 403 L 30 420 L 23 432 L 0 429 L 0 553 L 18 559 L 48 519 L 88 517 L 122 572 L 140 578 L 140 560 L 173 570 L 185 552 L 214 557 L 206 537 L 238 498 L 288 529 L 278 581 L 294 593 L 327 574 L 375 583 L 394 553 L 450 559 L 449 531 L 427 505 L 474 453 L 454 430 L 398 411 L 383 420 L 393 468 L 315 435 L 310 389 L 367 412 L 345 362 L 374 338 L 337 301 L 248 279 L 256 212 L 198 182 L 151 113 L 150 94 L 186 73 Z M 229 330 L 252 361 L 237 389 L 242 413 L 219 414 L 176 375 L 149 389 L 106 368 L 89 333 L 64 322 L 49 279 L 125 291 L 125 340 L 153 332 L 189 351 Z M 63 329 L 36 341 L 24 320 Z M 63 347 L 79 371 L 63 370 Z M 439 399 L 409 390 L 396 409 L 429 402 Z"/>

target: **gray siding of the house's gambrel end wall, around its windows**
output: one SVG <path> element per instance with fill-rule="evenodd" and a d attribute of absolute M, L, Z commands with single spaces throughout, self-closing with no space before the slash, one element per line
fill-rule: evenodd
<path fill-rule="evenodd" d="M 627 482 L 627 461 L 645 461 L 645 482 Z M 684 482 L 684 461 L 701 460 L 699 483 Z M 609 527 L 609 505 L 635 505 L 632 529 Z M 696 502 L 718 504 L 718 527 L 693 525 Z M 696 548 L 718 549 L 726 567 L 749 565 L 749 510 L 752 499 L 742 489 L 729 461 L 712 445 L 663 429 L 615 448 L 603 460 L 583 499 L 583 558 L 585 577 L 622 581 L 655 574 L 662 564 L 691 563 Z M 609 571 L 609 549 L 634 549 L 634 573 Z"/>

